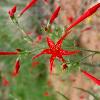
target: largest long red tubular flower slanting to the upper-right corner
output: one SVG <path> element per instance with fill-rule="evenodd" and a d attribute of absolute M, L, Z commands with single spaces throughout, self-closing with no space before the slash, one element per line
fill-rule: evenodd
<path fill-rule="evenodd" d="M 96 10 L 100 7 L 100 3 L 94 5 L 93 7 L 89 8 L 87 11 L 85 11 L 76 21 L 74 21 L 66 30 L 70 30 L 77 24 L 79 24 L 81 21 L 86 19 L 87 17 L 91 16 L 93 13 L 96 12 Z"/>

